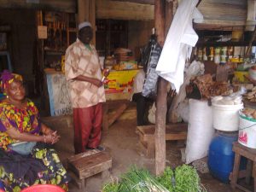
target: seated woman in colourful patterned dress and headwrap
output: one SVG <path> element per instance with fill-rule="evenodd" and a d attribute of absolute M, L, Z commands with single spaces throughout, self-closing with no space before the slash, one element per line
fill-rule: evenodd
<path fill-rule="evenodd" d="M 0 180 L 5 191 L 19 192 L 37 183 L 67 191 L 69 177 L 50 144 L 60 136 L 40 122 L 38 108 L 25 97 L 22 77 L 4 71 L 0 101 Z"/>

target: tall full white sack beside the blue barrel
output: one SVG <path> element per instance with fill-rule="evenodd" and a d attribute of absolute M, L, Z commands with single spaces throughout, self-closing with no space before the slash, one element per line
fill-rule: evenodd
<path fill-rule="evenodd" d="M 213 134 L 212 107 L 208 106 L 207 101 L 189 99 L 186 164 L 207 156 Z"/>

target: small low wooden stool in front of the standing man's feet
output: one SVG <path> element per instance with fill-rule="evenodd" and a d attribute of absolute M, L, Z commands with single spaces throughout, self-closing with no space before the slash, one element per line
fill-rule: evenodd
<path fill-rule="evenodd" d="M 112 158 L 106 151 L 98 149 L 89 150 L 82 154 L 76 154 L 67 160 L 68 170 L 80 189 L 85 191 L 85 179 L 102 172 L 102 177 L 108 175 L 108 169 L 112 167 Z M 78 179 L 79 178 L 79 179 Z"/>

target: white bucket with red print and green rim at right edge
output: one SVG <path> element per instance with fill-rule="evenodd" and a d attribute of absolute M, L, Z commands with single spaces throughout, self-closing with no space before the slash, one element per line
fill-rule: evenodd
<path fill-rule="evenodd" d="M 239 112 L 238 143 L 248 148 L 256 148 L 256 119 L 242 116 L 241 111 Z"/>

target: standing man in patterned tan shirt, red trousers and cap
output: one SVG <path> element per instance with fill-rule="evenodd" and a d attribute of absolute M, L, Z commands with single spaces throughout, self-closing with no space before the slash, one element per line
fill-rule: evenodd
<path fill-rule="evenodd" d="M 79 24 L 79 36 L 65 55 L 65 74 L 73 104 L 75 154 L 99 146 L 102 129 L 102 102 L 106 102 L 102 68 L 95 47 L 90 44 L 90 22 Z M 108 71 L 103 70 L 104 76 Z"/>

